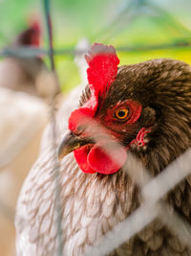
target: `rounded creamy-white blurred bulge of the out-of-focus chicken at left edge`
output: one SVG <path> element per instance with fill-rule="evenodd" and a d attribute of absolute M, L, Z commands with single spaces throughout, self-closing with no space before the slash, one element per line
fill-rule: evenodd
<path fill-rule="evenodd" d="M 27 93 L 0 88 L 0 169 L 13 160 L 44 127 L 47 106 Z"/>

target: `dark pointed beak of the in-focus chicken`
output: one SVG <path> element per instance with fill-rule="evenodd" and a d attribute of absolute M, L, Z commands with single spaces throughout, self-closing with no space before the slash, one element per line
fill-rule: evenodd
<path fill-rule="evenodd" d="M 87 144 L 93 144 L 93 140 L 87 137 L 75 135 L 72 131 L 68 131 L 62 139 L 58 148 L 58 159 L 61 160 L 65 155 L 75 151 Z"/>

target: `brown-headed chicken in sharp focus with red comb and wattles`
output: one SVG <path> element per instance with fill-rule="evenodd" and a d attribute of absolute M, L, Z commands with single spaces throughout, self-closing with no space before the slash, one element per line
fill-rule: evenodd
<path fill-rule="evenodd" d="M 118 67 L 115 49 L 101 44 L 95 44 L 86 59 L 89 85 L 79 107 L 74 109 L 79 93 L 75 89 L 56 116 L 55 143 L 59 159 L 63 158 L 59 172 L 63 255 L 83 255 L 138 208 L 138 186 L 123 171 L 128 152 L 150 175 L 158 175 L 191 145 L 189 65 L 161 58 Z M 94 130 L 95 122 L 100 131 Z M 58 248 L 50 136 L 51 124 L 18 199 L 18 255 L 54 255 Z M 104 150 L 107 147 L 115 159 Z M 186 221 L 190 221 L 190 185 L 187 178 L 167 197 Z M 111 255 L 191 254 L 156 220 Z"/>

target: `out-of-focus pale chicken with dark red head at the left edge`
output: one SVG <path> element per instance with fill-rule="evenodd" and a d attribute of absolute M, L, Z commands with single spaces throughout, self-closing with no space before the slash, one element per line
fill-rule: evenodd
<path fill-rule="evenodd" d="M 17 37 L 13 49 L 20 47 L 25 37 L 31 40 L 32 32 L 39 39 L 37 28 L 35 31 L 32 27 Z M 44 69 L 43 61 L 39 61 Z M 32 77 L 25 70 L 32 63 L 39 71 L 38 58 L 5 57 L 0 61 L 0 255 L 3 256 L 15 255 L 15 204 L 23 180 L 38 155 L 40 136 L 48 120 L 47 105 L 33 97 L 38 94 L 35 87 L 38 74 L 33 73 Z"/>

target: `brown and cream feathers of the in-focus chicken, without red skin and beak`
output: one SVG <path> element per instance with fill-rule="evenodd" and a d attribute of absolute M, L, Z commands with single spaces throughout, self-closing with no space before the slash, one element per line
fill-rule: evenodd
<path fill-rule="evenodd" d="M 57 117 L 58 145 L 68 129 L 67 121 L 76 89 L 61 106 Z M 133 99 L 141 106 L 141 115 L 133 133 L 122 137 L 129 145 L 138 129 L 152 128 L 146 135 L 145 147 L 131 145 L 130 151 L 144 164 L 151 175 L 158 175 L 169 163 L 191 145 L 191 68 L 180 61 L 154 59 L 122 66 L 107 92 L 107 100 L 97 116 L 104 123 L 107 109 L 118 101 Z M 90 98 L 88 89 L 82 105 Z M 56 206 L 51 125 L 46 129 L 38 160 L 22 188 L 17 204 L 16 232 L 18 255 L 54 255 L 56 241 Z M 125 146 L 127 146 L 125 145 Z M 127 159 L 128 161 L 128 159 Z M 122 170 L 114 175 L 84 174 L 74 154 L 63 158 L 60 166 L 60 204 L 63 255 L 83 255 L 98 243 L 107 231 L 138 208 L 137 184 Z M 184 180 L 168 195 L 168 202 L 191 223 L 191 182 Z M 111 255 L 191 255 L 185 245 L 156 220 L 139 232 L 130 242 L 122 244 Z"/>

